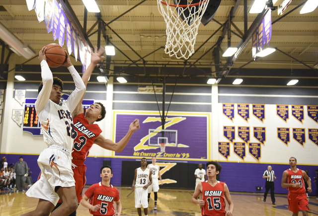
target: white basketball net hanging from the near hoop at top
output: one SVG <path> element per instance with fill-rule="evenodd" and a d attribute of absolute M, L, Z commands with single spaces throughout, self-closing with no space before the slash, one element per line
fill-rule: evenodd
<path fill-rule="evenodd" d="M 164 52 L 177 59 L 188 59 L 194 53 L 198 28 L 209 0 L 158 0 L 158 9 L 166 23 Z"/>

